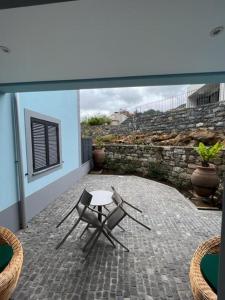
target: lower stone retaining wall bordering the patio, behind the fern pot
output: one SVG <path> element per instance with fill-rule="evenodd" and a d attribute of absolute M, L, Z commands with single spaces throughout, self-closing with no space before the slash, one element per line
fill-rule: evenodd
<path fill-rule="evenodd" d="M 116 145 L 105 147 L 105 168 L 121 173 L 139 173 L 157 180 L 166 180 L 176 187 L 191 185 L 190 177 L 199 155 L 193 147 Z M 222 180 L 225 171 L 225 151 L 221 151 L 213 163 Z"/>

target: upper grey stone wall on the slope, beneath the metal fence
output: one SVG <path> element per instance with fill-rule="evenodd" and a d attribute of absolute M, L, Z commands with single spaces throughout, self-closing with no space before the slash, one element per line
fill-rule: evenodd
<path fill-rule="evenodd" d="M 225 102 L 184 108 L 156 115 L 139 114 L 128 118 L 119 126 L 83 127 L 84 135 L 102 136 L 107 134 L 129 134 L 131 132 L 182 132 L 196 128 L 211 130 L 225 127 Z"/>

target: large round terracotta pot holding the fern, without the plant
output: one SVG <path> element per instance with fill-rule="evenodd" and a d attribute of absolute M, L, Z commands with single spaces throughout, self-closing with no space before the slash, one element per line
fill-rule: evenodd
<path fill-rule="evenodd" d="M 200 197 L 213 195 L 219 185 L 219 177 L 214 165 L 209 167 L 198 166 L 191 175 L 191 182 L 196 194 Z"/>

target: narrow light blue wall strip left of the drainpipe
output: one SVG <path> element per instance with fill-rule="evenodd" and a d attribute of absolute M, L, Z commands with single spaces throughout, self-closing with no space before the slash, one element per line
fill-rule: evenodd
<path fill-rule="evenodd" d="M 0 211 L 17 201 L 11 95 L 0 94 Z"/>

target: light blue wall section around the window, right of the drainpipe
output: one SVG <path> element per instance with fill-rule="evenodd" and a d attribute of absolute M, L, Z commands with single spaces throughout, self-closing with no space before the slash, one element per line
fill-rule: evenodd
<path fill-rule="evenodd" d="M 78 96 L 75 91 L 19 93 L 17 96 L 24 173 L 27 173 L 24 110 L 29 109 L 61 120 L 63 166 L 31 182 L 28 182 L 27 176 L 24 175 L 25 196 L 29 196 L 79 167 Z"/>

